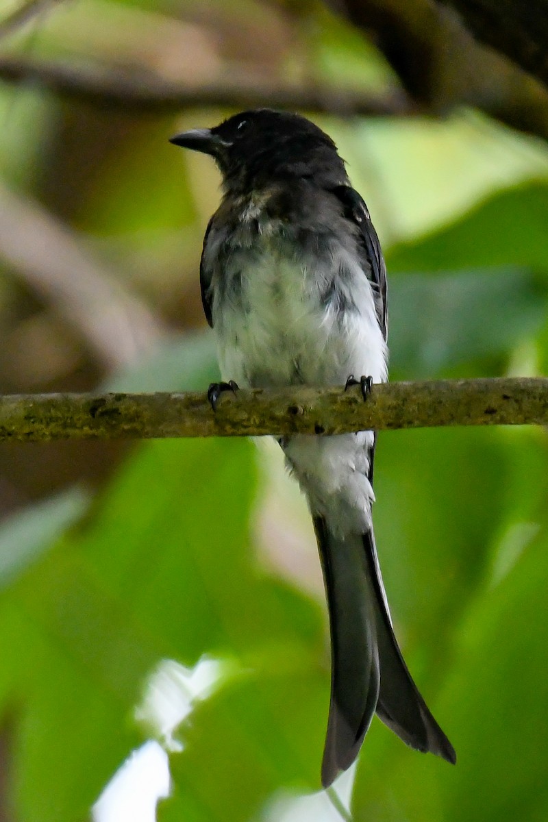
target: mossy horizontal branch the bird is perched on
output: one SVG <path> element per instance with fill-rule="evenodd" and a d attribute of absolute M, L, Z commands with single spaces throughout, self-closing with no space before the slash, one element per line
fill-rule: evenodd
<path fill-rule="evenodd" d="M 0 399 L 0 440 L 341 434 L 368 428 L 548 424 L 548 378 L 393 382 L 242 390 L 214 413 L 205 392 L 13 395 Z"/>

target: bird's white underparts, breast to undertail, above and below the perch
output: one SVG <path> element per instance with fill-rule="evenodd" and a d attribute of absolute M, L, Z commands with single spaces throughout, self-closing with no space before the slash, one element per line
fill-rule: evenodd
<path fill-rule="evenodd" d="M 261 222 L 256 212 L 246 217 L 212 279 L 223 379 L 242 387 L 342 387 L 351 374 L 385 381 L 385 339 L 357 260 L 329 232 L 306 243 L 323 251 L 306 252 L 285 236 L 283 224 Z M 341 534 L 371 525 L 373 442 L 373 432 L 359 432 L 282 443 L 311 510 Z"/>

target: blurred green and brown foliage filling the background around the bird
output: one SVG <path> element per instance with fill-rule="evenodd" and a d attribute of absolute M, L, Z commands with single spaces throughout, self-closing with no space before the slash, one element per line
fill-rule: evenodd
<path fill-rule="evenodd" d="M 402 25 L 416 28 L 420 6 Z M 7 20 L 16 8 L 0 4 Z M 290 83 L 296 108 L 324 90 L 327 103 L 301 108 L 334 136 L 383 240 L 394 379 L 546 373 L 548 107 L 509 63 L 468 44 L 484 71 L 436 62 L 436 95 L 413 99 L 403 64 L 398 76 L 375 47 L 379 31 L 320 3 L 41 8 L 3 32 L 0 74 L 2 59 L 56 61 L 98 85 L 112 72 L 141 89 L 186 84 L 196 101 L 145 111 L 5 76 L 4 393 L 214 379 L 197 270 L 218 177 L 167 140 L 242 108 L 253 83 L 265 94 Z M 205 94 L 215 84 L 225 107 Z M 340 109 L 345 94 L 369 100 L 371 115 L 317 110 Z M 333 818 L 308 796 L 320 789 L 329 698 L 320 570 L 278 451 L 163 441 L 0 452 L 0 820 L 85 819 L 151 735 L 170 755 L 163 822 Z M 380 437 L 375 529 L 394 621 L 458 765 L 407 750 L 375 719 L 356 820 L 546 818 L 547 460 L 546 432 L 533 428 Z M 177 728 L 177 750 L 136 705 L 161 660 L 204 657 L 220 676 Z"/>

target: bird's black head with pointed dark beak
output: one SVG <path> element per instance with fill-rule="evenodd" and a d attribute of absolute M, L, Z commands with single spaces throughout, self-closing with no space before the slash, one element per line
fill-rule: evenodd
<path fill-rule="evenodd" d="M 231 191 L 295 178 L 313 178 L 329 187 L 347 178 L 334 141 L 299 114 L 246 111 L 214 128 L 178 134 L 171 142 L 212 155 Z"/>

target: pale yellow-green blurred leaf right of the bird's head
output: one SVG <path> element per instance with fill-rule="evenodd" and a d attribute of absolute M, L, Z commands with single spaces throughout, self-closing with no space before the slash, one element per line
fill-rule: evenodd
<path fill-rule="evenodd" d="M 522 185 L 533 189 L 547 185 L 546 143 L 511 132 L 476 112 L 461 111 L 438 120 L 361 118 L 350 126 L 339 125 L 334 136 L 385 246 L 387 238 L 393 242 L 411 238 L 414 242 L 419 234 L 454 220 L 460 222 L 469 209 L 475 210 L 479 199 L 501 188 L 539 178 L 541 182 Z M 544 196 L 540 200 L 544 201 Z M 506 212 L 502 225 L 496 220 L 496 210 L 491 211 L 503 254 L 509 238 L 519 230 L 519 209 L 524 204 L 517 201 L 516 205 L 518 210 Z M 535 226 L 543 221 L 546 210 L 536 215 L 531 210 L 526 213 L 532 215 L 536 234 Z M 525 238 L 527 221 L 522 228 Z M 486 237 L 480 230 L 473 238 L 463 236 L 466 247 L 473 248 L 477 239 L 481 247 Z M 504 258 L 502 265 L 513 262 L 513 258 Z M 452 265 L 448 250 L 442 266 L 447 269 Z M 500 256 L 486 265 L 500 265 Z M 477 266 L 477 261 L 472 261 L 464 267 Z M 398 260 L 393 264 L 390 256 L 389 271 L 398 267 Z M 412 267 L 422 270 L 420 264 Z"/>

